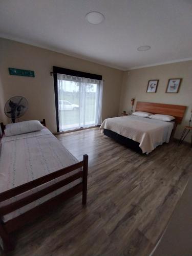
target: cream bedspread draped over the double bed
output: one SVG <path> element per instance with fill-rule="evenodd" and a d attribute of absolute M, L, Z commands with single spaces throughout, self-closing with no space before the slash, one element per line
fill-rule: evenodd
<path fill-rule="evenodd" d="M 108 118 L 100 126 L 126 138 L 139 142 L 143 153 L 150 153 L 163 142 L 168 142 L 174 122 L 164 122 L 145 117 L 126 116 Z"/>

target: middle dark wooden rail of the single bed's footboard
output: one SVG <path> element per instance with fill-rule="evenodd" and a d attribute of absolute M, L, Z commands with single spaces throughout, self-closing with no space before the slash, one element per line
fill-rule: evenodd
<path fill-rule="evenodd" d="M 22 198 L 14 203 L 11 203 L 9 205 L 6 205 L 6 206 L 3 206 L 0 208 L 0 215 L 1 216 L 4 216 L 6 214 L 9 214 L 10 212 L 20 208 L 20 207 L 23 207 L 25 206 L 26 204 L 29 204 L 41 197 L 44 197 L 46 195 L 48 195 L 49 193 L 55 191 L 56 189 L 62 187 L 62 186 L 65 186 L 77 179 L 79 179 L 80 177 L 83 176 L 83 172 L 80 171 L 78 172 L 77 174 L 74 174 L 72 176 L 70 176 L 69 178 L 65 179 L 65 180 L 61 180 L 49 187 L 46 187 L 44 189 L 41 189 L 40 191 L 28 196 L 28 197 L 25 197 L 25 198 Z"/>

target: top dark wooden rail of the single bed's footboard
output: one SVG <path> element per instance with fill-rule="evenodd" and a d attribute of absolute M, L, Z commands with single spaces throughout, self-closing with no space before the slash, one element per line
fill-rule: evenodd
<path fill-rule="evenodd" d="M 36 180 L 30 181 L 28 183 L 25 183 L 23 185 L 17 186 L 15 188 L 6 190 L 5 192 L 0 194 L 0 202 L 5 201 L 9 198 L 12 198 L 14 196 L 17 196 L 19 194 L 22 194 L 32 188 L 35 188 L 39 185 L 42 185 L 46 182 L 49 182 L 51 180 L 54 180 L 64 174 L 70 173 L 75 169 L 78 169 L 83 166 L 83 161 L 75 163 L 73 165 L 70 165 L 68 167 L 65 167 L 63 169 L 57 170 L 56 172 L 53 172 L 51 174 L 45 175 L 43 177 L 40 177 Z"/>

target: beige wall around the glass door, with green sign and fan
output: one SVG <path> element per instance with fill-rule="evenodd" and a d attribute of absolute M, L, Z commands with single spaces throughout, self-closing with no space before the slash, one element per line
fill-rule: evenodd
<path fill-rule="evenodd" d="M 0 49 L 1 112 L 9 98 L 22 95 L 29 101 L 29 110 L 20 120 L 46 118 L 48 128 L 56 132 L 54 83 L 50 71 L 53 66 L 58 66 L 102 75 L 105 80 L 102 118 L 118 115 L 122 71 L 3 38 L 0 38 Z M 8 68 L 33 70 L 35 77 L 12 76 L 9 75 Z M 7 122 L 4 114 L 0 116 L 1 121 Z"/>

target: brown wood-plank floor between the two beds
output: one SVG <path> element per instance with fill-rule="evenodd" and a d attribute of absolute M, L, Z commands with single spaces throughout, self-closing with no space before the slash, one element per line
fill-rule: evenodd
<path fill-rule="evenodd" d="M 15 233 L 9 255 L 149 255 L 187 184 L 189 145 L 139 155 L 90 129 L 57 136 L 79 160 L 89 155 L 88 204 L 81 195 Z"/>

